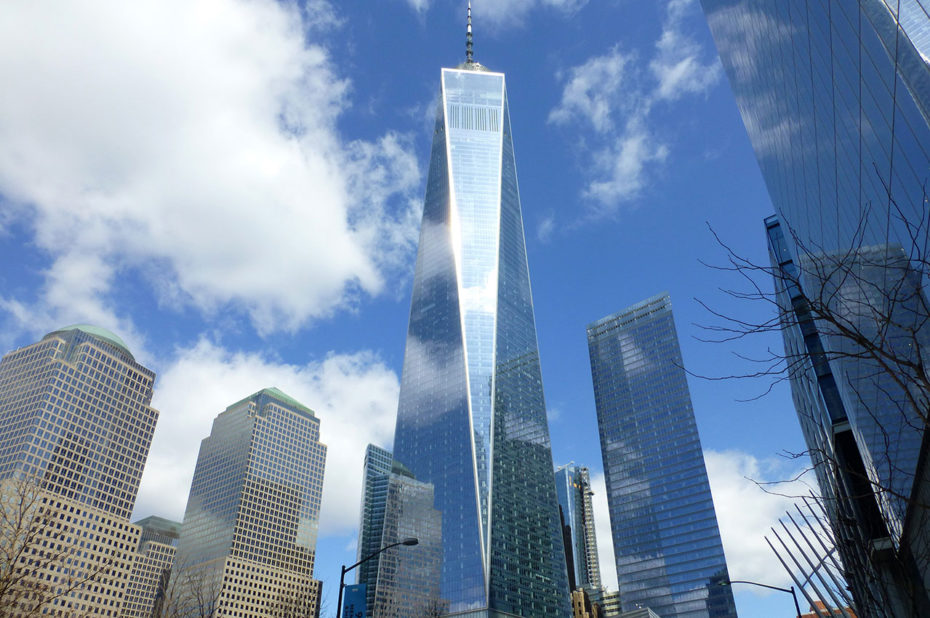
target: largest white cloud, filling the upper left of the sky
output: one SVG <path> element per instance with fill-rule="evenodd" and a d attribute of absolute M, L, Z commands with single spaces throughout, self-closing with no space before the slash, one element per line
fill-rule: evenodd
<path fill-rule="evenodd" d="M 262 332 L 382 291 L 419 173 L 398 135 L 337 133 L 350 85 L 305 40 L 335 19 L 323 0 L 0 6 L 0 193 L 51 256 L 36 328 L 125 321 L 101 314 L 127 273 Z"/>

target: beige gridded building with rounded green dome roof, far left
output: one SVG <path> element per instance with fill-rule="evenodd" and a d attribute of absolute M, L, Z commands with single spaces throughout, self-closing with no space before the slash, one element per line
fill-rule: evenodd
<path fill-rule="evenodd" d="M 6 615 L 119 615 L 154 380 L 119 337 L 89 325 L 0 361 L 0 515 L 21 519 L 3 526 L 15 580 Z"/>

